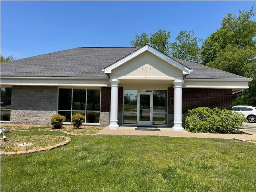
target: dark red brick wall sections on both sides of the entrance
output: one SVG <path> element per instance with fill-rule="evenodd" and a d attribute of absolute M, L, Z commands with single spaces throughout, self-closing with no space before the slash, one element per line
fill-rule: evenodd
<path fill-rule="evenodd" d="M 118 112 L 123 112 L 123 87 L 118 87 Z M 174 88 L 168 88 L 167 105 L 168 113 L 174 113 L 174 105 L 171 99 L 174 98 Z M 110 112 L 111 87 L 101 87 L 101 112 Z M 182 114 L 188 109 L 197 107 L 218 107 L 220 109 L 232 109 L 231 89 L 190 89 L 182 88 Z"/>

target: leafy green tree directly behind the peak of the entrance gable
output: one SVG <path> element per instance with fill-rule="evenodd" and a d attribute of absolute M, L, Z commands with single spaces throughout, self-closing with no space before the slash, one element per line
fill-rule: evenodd
<path fill-rule="evenodd" d="M 135 39 L 130 42 L 134 47 L 143 47 L 146 44 L 151 45 L 160 52 L 169 55 L 171 43 L 168 40 L 171 37 L 171 32 L 158 29 L 155 33 L 148 37 L 147 33 L 144 32 L 141 35 L 136 35 Z"/>

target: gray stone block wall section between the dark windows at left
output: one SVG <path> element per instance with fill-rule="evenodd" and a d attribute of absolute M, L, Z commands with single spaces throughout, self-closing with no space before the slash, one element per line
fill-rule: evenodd
<path fill-rule="evenodd" d="M 49 125 L 57 113 L 58 87 L 12 86 L 12 124 Z"/>

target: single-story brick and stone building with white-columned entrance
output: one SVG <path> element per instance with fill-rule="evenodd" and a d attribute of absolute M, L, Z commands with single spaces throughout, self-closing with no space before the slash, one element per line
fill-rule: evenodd
<path fill-rule="evenodd" d="M 84 124 L 182 131 L 196 107 L 232 109 L 251 79 L 169 57 L 155 48 L 79 47 L 1 64 L 1 122 L 49 124 L 82 112 Z M 11 98 L 11 99 L 10 99 Z"/>

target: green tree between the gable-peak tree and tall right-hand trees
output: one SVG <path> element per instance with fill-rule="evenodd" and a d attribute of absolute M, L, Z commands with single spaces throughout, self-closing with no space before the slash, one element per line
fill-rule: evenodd
<path fill-rule="evenodd" d="M 200 63 L 200 48 L 198 39 L 194 31 L 180 31 L 176 42 L 171 43 L 171 56 Z"/>

